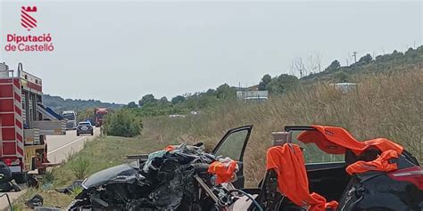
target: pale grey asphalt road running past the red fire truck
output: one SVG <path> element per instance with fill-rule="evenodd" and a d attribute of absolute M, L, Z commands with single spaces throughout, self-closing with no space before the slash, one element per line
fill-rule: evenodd
<path fill-rule="evenodd" d="M 94 136 L 81 134 L 77 136 L 76 131 L 67 131 L 66 135 L 47 135 L 47 158 L 52 163 L 66 161 L 71 154 L 82 150 L 84 142 L 93 140 L 100 134 L 100 128 L 95 127 Z M 20 192 L 8 192 L 11 200 L 18 199 L 25 190 Z M 0 195 L 3 193 L 0 192 Z M 8 210 L 8 203 L 5 197 L 0 198 L 0 210 Z"/>

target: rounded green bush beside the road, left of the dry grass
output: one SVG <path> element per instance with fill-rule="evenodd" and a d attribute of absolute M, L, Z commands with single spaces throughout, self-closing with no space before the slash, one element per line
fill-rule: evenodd
<path fill-rule="evenodd" d="M 109 135 L 133 137 L 141 134 L 143 122 L 131 110 L 118 110 L 109 115 L 105 121 L 105 130 Z"/>

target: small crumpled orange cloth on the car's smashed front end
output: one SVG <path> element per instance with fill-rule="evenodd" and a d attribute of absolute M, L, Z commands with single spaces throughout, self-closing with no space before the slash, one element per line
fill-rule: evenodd
<path fill-rule="evenodd" d="M 237 164 L 235 160 L 231 160 L 228 165 L 221 163 L 220 161 L 214 161 L 207 170 L 210 174 L 216 174 L 216 184 L 228 183 L 235 175 Z"/>

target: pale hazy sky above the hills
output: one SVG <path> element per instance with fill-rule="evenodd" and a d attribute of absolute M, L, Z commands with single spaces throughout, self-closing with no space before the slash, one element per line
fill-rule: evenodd
<path fill-rule="evenodd" d="M 37 6 L 37 28 L 21 26 L 21 6 Z M 421 0 L 0 0 L 0 61 L 22 62 L 44 93 L 63 98 L 171 99 L 256 85 L 265 74 L 292 73 L 300 59 L 324 69 L 351 63 L 352 52 L 406 51 L 423 43 L 422 12 Z M 7 52 L 8 34 L 50 34 L 54 51 Z"/>

